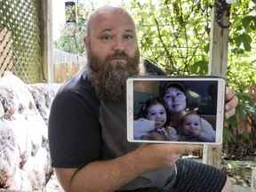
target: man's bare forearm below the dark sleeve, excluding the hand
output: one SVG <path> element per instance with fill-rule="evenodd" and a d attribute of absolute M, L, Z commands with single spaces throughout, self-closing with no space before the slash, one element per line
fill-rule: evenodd
<path fill-rule="evenodd" d="M 81 170 L 56 168 L 61 186 L 67 192 L 114 191 L 140 175 L 134 153 L 108 161 L 86 164 Z"/>

